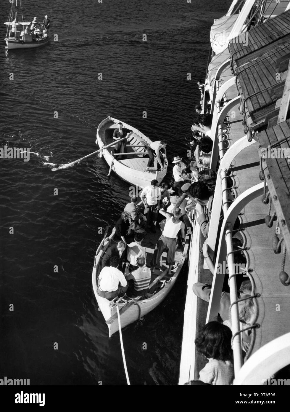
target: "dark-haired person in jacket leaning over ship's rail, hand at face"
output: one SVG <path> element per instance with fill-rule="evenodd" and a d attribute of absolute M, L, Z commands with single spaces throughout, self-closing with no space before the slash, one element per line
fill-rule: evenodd
<path fill-rule="evenodd" d="M 190 186 L 190 197 L 196 200 L 195 210 L 198 213 L 197 222 L 205 238 L 209 234 L 209 222 L 211 219 L 211 208 L 213 195 L 209 192 L 208 187 L 203 182 L 195 182 Z"/>

